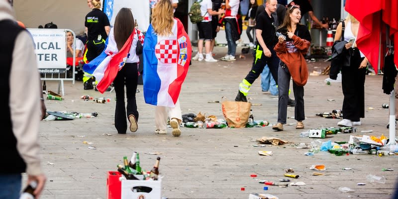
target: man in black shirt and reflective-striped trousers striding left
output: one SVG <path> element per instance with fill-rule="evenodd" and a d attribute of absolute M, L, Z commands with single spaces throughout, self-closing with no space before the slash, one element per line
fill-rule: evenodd
<path fill-rule="evenodd" d="M 270 68 L 272 77 L 278 85 L 278 64 L 274 46 L 278 43 L 275 35 L 275 22 L 271 13 L 277 9 L 277 0 L 266 0 L 265 12 L 260 13 L 256 18 L 256 56 L 254 58 L 252 69 L 246 78 L 239 84 L 239 92 L 235 101 L 247 101 L 246 96 L 249 93 L 250 86 L 260 76 L 265 65 Z"/>

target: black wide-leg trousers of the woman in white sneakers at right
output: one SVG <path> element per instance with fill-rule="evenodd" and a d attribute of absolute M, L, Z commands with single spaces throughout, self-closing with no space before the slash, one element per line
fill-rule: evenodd
<path fill-rule="evenodd" d="M 351 56 L 351 65 L 341 67 L 341 85 L 343 89 L 343 118 L 351 121 L 359 121 L 365 117 L 365 73 L 366 68 L 358 69 L 363 58 L 358 48 Z"/>

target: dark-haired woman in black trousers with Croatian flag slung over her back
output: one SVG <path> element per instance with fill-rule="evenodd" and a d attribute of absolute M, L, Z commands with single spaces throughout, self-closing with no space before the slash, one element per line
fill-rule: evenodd
<path fill-rule="evenodd" d="M 135 91 L 138 81 L 137 42 L 144 43 L 143 34 L 134 28 L 134 18 L 129 8 L 121 8 L 110 29 L 105 50 L 96 59 L 84 66 L 93 71 L 103 93 L 113 82 L 116 93 L 115 127 L 117 133 L 125 134 L 126 118 L 130 121 L 130 131 L 137 131 L 138 111 Z M 124 86 L 126 86 L 127 114 L 124 105 Z M 126 117 L 127 116 L 127 117 Z"/>

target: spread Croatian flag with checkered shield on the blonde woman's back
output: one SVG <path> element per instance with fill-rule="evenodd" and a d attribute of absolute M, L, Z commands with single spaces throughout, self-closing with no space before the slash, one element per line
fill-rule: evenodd
<path fill-rule="evenodd" d="M 143 46 L 145 102 L 174 107 L 191 62 L 191 41 L 180 20 L 174 19 L 172 35 L 157 35 L 149 25 Z"/>

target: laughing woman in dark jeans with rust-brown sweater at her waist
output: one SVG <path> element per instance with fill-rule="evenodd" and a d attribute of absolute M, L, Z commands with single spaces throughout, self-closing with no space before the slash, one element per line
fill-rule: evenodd
<path fill-rule="evenodd" d="M 308 79 L 308 69 L 304 56 L 311 42 L 311 35 L 306 26 L 299 23 L 301 11 L 299 6 L 288 8 L 284 22 L 277 29 L 279 42 L 274 50 L 281 61 L 278 68 L 278 123 L 272 129 L 281 131 L 286 124 L 286 114 L 289 100 L 290 78 L 293 79 L 295 94 L 296 129 L 304 128 L 304 85 Z M 280 35 L 279 33 L 282 33 Z"/>

